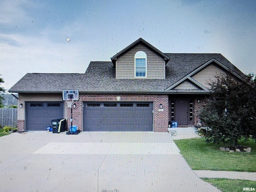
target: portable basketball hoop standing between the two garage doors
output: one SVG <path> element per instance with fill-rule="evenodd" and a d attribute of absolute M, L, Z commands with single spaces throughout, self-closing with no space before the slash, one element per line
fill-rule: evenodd
<path fill-rule="evenodd" d="M 77 132 L 73 132 L 73 117 L 72 117 L 72 103 L 74 101 L 79 100 L 79 91 L 78 90 L 63 90 L 62 91 L 62 100 L 66 101 L 68 108 L 70 108 L 71 116 L 70 116 L 70 124 L 71 124 L 71 129 L 69 132 L 66 134 L 77 134 Z"/>

